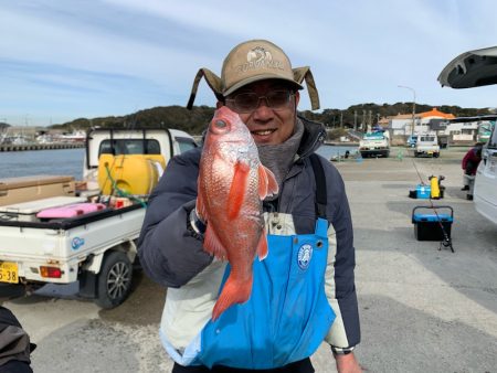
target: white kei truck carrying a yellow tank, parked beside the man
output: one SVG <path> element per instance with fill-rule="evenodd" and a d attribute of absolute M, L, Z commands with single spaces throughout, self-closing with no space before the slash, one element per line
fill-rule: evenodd
<path fill-rule="evenodd" d="M 91 128 L 83 181 L 0 180 L 0 292 L 78 281 L 81 297 L 105 309 L 120 305 L 148 194 L 171 157 L 194 147 L 173 129 Z"/>

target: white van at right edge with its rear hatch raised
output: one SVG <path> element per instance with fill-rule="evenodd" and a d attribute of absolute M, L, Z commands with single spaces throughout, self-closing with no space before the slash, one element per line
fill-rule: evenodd
<path fill-rule="evenodd" d="M 497 84 L 497 46 L 469 51 L 455 57 L 438 76 L 442 86 L 470 88 Z M 497 224 L 497 129 L 482 151 L 475 178 L 476 211 Z"/>

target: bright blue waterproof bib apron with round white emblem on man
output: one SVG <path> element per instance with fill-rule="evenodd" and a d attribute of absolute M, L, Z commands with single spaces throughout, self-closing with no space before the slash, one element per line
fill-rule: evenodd
<path fill-rule="evenodd" d="M 327 230 L 319 217 L 314 234 L 267 236 L 269 254 L 254 260 L 251 298 L 205 324 L 193 365 L 273 369 L 318 349 L 335 320 L 325 295 Z M 230 266 L 221 289 L 229 274 Z"/>

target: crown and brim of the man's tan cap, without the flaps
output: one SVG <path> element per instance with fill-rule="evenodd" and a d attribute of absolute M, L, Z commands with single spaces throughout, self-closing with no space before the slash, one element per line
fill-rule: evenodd
<path fill-rule="evenodd" d="M 264 81 L 282 79 L 297 89 L 303 86 L 295 82 L 288 56 L 267 40 L 250 40 L 231 50 L 224 58 L 221 71 L 221 89 L 228 96 L 244 85 Z"/>

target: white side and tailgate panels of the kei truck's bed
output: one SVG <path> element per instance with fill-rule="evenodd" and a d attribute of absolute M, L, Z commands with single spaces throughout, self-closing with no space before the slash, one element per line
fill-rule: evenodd
<path fill-rule="evenodd" d="M 50 221 L 0 220 L 0 263 L 15 264 L 21 281 L 68 284 L 80 265 L 119 242 L 138 237 L 145 207 L 105 209 L 77 217 Z M 44 278 L 41 266 L 55 266 L 59 278 Z"/>

